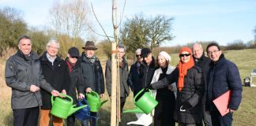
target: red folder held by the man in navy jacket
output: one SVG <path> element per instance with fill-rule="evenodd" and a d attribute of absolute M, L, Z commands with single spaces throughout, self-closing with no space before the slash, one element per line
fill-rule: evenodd
<path fill-rule="evenodd" d="M 219 110 L 222 117 L 225 114 L 229 113 L 228 103 L 230 102 L 231 93 L 232 92 L 229 90 L 223 95 L 220 95 L 220 97 L 213 100 L 213 103 L 215 104 L 216 108 Z"/>

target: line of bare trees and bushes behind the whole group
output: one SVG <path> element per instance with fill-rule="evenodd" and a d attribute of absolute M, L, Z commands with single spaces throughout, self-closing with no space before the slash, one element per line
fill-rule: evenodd
<path fill-rule="evenodd" d="M 0 8 L 0 56 L 8 48 L 17 48 L 17 39 L 21 35 L 29 35 L 32 38 L 32 49 L 38 54 L 42 54 L 45 45 L 50 39 L 57 39 L 61 44 L 59 55 L 66 56 L 66 51 L 71 46 L 77 46 L 81 50 L 81 46 L 85 44 L 87 39 L 97 41 L 90 28 L 92 23 L 88 20 L 87 3 L 85 0 L 70 0 L 65 2 L 55 2 L 51 8 L 51 23 L 46 30 L 38 30 L 37 28 L 28 28 L 28 25 L 22 18 L 23 15 L 17 9 L 10 7 Z M 127 18 L 120 28 L 119 42 L 126 46 L 126 55 L 128 58 L 134 58 L 134 52 L 137 48 L 149 47 L 153 54 L 158 54 L 161 50 L 168 53 L 179 53 L 181 46 L 192 46 L 193 43 L 186 45 L 160 47 L 163 43 L 171 43 L 174 35 L 171 33 L 174 18 L 164 15 L 156 17 L 146 17 L 139 13 L 134 17 Z M 243 50 L 248 48 L 256 48 L 256 26 L 253 29 L 254 40 L 244 43 L 242 40 L 234 40 L 223 46 L 224 50 Z M 205 49 L 209 43 L 201 43 Z M 102 40 L 97 43 L 99 49 L 96 53 L 109 56 L 111 52 L 111 43 L 108 40 Z"/>

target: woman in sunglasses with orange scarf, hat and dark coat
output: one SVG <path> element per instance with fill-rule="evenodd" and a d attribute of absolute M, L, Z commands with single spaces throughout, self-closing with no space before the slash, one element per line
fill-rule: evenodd
<path fill-rule="evenodd" d="M 205 83 L 201 68 L 194 65 L 192 51 L 183 47 L 179 51 L 179 65 L 163 80 L 152 83 L 149 88 L 160 89 L 177 83 L 177 99 L 174 119 L 179 126 L 196 126 L 201 124 L 201 98 L 205 91 Z"/>

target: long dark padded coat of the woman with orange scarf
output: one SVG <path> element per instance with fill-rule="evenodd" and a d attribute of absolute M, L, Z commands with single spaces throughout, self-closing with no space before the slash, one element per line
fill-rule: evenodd
<path fill-rule="evenodd" d="M 179 70 L 175 69 L 170 75 L 163 80 L 152 83 L 153 89 L 159 89 L 167 87 L 171 83 L 178 83 Z M 185 124 L 201 123 L 202 120 L 202 104 L 201 98 L 204 94 L 204 79 L 202 77 L 201 68 L 194 65 L 194 67 L 188 69 L 184 78 L 184 87 L 182 91 L 177 91 L 177 99 L 175 104 L 174 118 L 177 122 Z M 186 109 L 185 112 L 180 111 L 180 107 L 184 102 L 189 102 L 192 106 L 190 109 Z"/>

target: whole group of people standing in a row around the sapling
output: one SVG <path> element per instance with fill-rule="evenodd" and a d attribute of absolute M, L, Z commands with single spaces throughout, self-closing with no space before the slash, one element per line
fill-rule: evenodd
<path fill-rule="evenodd" d="M 46 51 L 40 57 L 32 51 L 32 39 L 24 35 L 18 40 L 17 54 L 6 61 L 6 83 L 12 87 L 13 125 L 48 125 L 52 117 L 53 125 L 63 125 L 61 118 L 51 115 L 51 95 L 70 95 L 73 104 L 78 98 L 86 98 L 85 93 L 96 91 L 104 97 L 104 73 L 98 48 L 87 41 L 81 55 L 76 47 L 68 50 L 66 59 L 58 56 L 58 41 L 50 40 Z M 232 113 L 238 109 L 242 99 L 242 82 L 239 70 L 228 61 L 217 43 L 210 43 L 205 57 L 200 43 L 192 49 L 182 47 L 179 64 L 171 66 L 171 56 L 161 51 L 156 59 L 149 48 L 137 49 L 137 61 L 131 65 L 124 57 L 126 47 L 118 46 L 120 106 L 121 112 L 131 91 L 153 89 L 158 105 L 153 112 L 156 126 L 207 126 L 232 125 Z M 111 60 L 105 68 L 106 88 L 111 98 Z M 130 87 L 130 88 L 129 88 Z M 231 90 L 228 104 L 229 113 L 222 117 L 213 99 Z M 40 116 L 39 116 L 40 115 Z M 98 113 L 91 112 L 98 117 Z M 202 121 L 203 120 L 203 121 Z M 74 115 L 66 120 L 68 126 L 75 124 Z M 83 126 L 97 125 L 97 118 L 81 121 Z"/>

